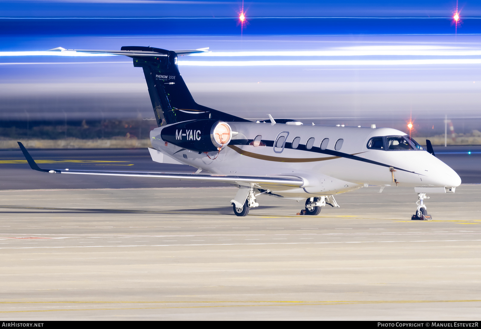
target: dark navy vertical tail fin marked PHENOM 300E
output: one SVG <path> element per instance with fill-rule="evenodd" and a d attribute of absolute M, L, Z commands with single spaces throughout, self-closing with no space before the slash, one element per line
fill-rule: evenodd
<path fill-rule="evenodd" d="M 175 51 L 152 47 L 122 47 L 121 51 L 132 51 L 132 55 L 126 55 L 134 59 L 134 66 L 143 68 L 159 127 L 197 119 L 217 119 L 227 122 L 249 121 L 197 104 L 180 76 Z M 145 53 L 144 55 L 141 53 L 143 51 L 148 51 L 149 54 Z M 159 53 L 159 56 L 152 55 L 152 52 Z"/>

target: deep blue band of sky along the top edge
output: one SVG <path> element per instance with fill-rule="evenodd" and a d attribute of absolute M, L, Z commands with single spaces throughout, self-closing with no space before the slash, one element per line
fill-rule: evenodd
<path fill-rule="evenodd" d="M 6 0 L 0 5 L 2 34 L 21 35 L 236 35 L 242 8 L 241 1 L 196 0 Z M 481 2 L 460 2 L 458 8 L 463 20 L 457 32 L 479 33 Z M 263 0 L 245 2 L 244 12 L 245 34 L 453 33 L 446 18 L 456 12 L 456 1 Z"/>

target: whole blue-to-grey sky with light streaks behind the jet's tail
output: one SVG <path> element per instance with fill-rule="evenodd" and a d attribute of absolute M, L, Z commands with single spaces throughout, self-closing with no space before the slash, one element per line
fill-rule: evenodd
<path fill-rule="evenodd" d="M 241 1 L 0 0 L 0 120 L 152 118 L 128 59 L 24 53 L 139 45 L 210 47 L 212 56 L 179 59 L 181 73 L 196 101 L 235 115 L 392 127 L 418 117 L 442 130 L 430 134 L 443 132 L 447 115 L 459 117 L 456 129 L 481 131 L 481 1 L 459 2 L 457 26 L 455 0 L 249 1 L 242 37 L 241 9 Z M 255 51 L 270 52 L 241 53 Z"/>

